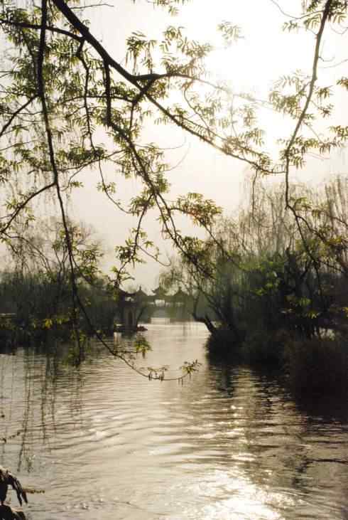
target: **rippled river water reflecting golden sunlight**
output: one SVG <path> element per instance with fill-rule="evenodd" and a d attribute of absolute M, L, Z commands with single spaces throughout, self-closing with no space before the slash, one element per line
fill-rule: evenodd
<path fill-rule="evenodd" d="M 148 381 L 97 345 L 78 369 L 63 347 L 0 354 L 0 463 L 45 490 L 28 519 L 348 519 L 346 402 L 212 359 L 200 324 L 158 319 L 146 337 L 139 366 L 200 370 Z"/>

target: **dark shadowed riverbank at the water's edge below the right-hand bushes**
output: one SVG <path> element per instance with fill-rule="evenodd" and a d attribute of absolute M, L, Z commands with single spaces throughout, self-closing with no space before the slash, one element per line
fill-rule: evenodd
<path fill-rule="evenodd" d="M 295 393 L 348 394 L 348 338 L 341 334 L 298 339 L 280 330 L 236 344 L 222 331 L 210 336 L 207 349 L 229 361 L 276 370 Z"/>

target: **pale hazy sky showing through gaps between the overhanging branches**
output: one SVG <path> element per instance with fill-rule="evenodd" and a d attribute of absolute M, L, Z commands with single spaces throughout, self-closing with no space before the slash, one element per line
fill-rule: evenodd
<path fill-rule="evenodd" d="M 301 2 L 283 0 L 279 4 L 286 12 L 295 15 L 299 13 Z M 180 8 L 180 16 L 175 18 L 168 17 L 161 9 L 153 9 L 146 0 L 138 0 L 136 4 L 131 0 L 116 0 L 114 7 L 89 9 L 87 14 L 92 21 L 92 33 L 123 64 L 125 39 L 132 31 L 161 39 L 167 25 L 183 26 L 190 38 L 200 42 L 210 41 L 217 47 L 209 61 L 212 78 L 228 80 L 234 90 L 251 90 L 258 97 L 266 97 L 268 88 L 280 75 L 297 69 L 309 74 L 312 67 L 315 36 L 311 33 L 284 33 L 282 25 L 286 18 L 272 0 L 192 0 Z M 243 35 L 238 43 L 227 50 L 216 36 L 217 24 L 226 20 L 239 25 Z M 345 58 L 344 48 L 347 48 L 347 38 L 344 47 L 342 37 L 337 34 L 325 36 L 322 55 L 327 61 L 321 63 L 320 75 L 327 84 L 333 83 L 339 73 L 344 75 L 344 68 L 347 70 L 345 63 L 341 68 L 332 66 Z M 338 118 L 342 115 L 343 106 L 339 109 Z M 347 115 L 347 111 L 344 113 Z M 271 113 L 263 115 L 263 123 L 270 130 L 271 140 L 289 134 L 292 129 L 289 122 Z M 178 147 L 168 152 L 171 164 L 178 164 L 168 174 L 172 186 L 170 196 L 197 191 L 213 198 L 227 214 L 235 211 L 243 198 L 244 182 L 248 175 L 243 164 L 222 156 L 178 129 L 153 127 L 148 129 L 148 137 L 149 141 L 160 142 L 163 147 Z M 307 169 L 301 171 L 298 177 L 304 181 L 322 180 L 323 176 L 345 171 L 345 154 L 342 153 L 333 161 L 311 159 Z M 75 193 L 73 214 L 94 225 L 109 249 L 107 265 L 110 265 L 113 246 L 126 238 L 132 222 L 116 213 L 112 204 L 96 192 L 95 185 L 99 179 L 97 172 L 94 173 L 84 177 L 85 189 Z M 109 171 L 109 175 L 114 174 Z M 116 196 L 120 199 L 130 198 L 139 187 L 134 179 L 123 181 L 117 177 L 115 181 L 119 188 Z M 149 217 L 150 238 L 170 253 L 170 245 L 163 244 L 158 227 L 153 222 L 154 216 Z M 179 227 L 190 229 L 190 224 L 183 220 Z M 156 287 L 158 272 L 159 267 L 153 262 L 142 265 L 136 270 L 136 282 L 151 290 Z"/>

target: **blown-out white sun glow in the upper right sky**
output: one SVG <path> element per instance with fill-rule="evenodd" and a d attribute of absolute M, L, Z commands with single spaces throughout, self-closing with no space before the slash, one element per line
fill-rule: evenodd
<path fill-rule="evenodd" d="M 300 2 L 293 2 L 296 5 Z M 208 67 L 217 77 L 231 82 L 236 90 L 269 87 L 279 75 L 310 65 L 310 41 L 314 37 L 284 33 L 284 17 L 271 0 L 202 1 L 199 6 L 192 2 L 186 9 L 187 17 L 183 18 L 190 32 L 217 48 Z M 296 9 L 293 12 L 296 14 Z M 216 31 L 222 21 L 229 21 L 241 30 L 241 38 L 229 48 L 224 48 Z"/>

